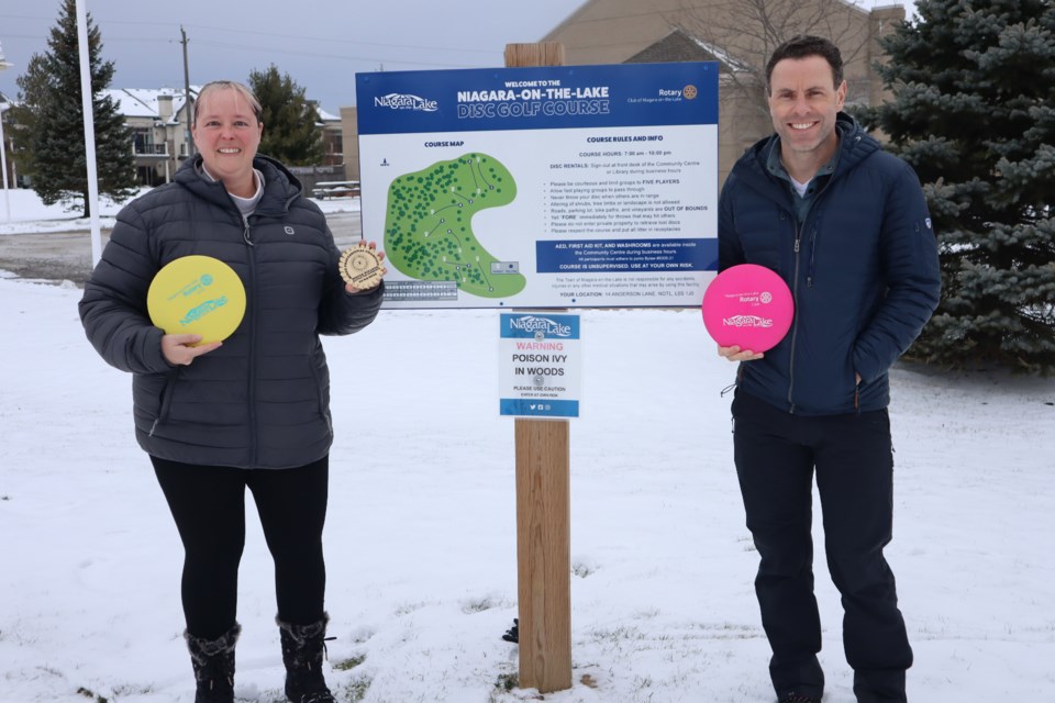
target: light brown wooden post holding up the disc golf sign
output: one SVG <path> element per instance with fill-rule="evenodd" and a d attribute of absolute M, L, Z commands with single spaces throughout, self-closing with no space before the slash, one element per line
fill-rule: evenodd
<path fill-rule="evenodd" d="M 562 66 L 564 45 L 507 44 L 506 66 Z M 571 688 L 571 511 L 567 420 L 513 421 L 520 688 Z"/>

